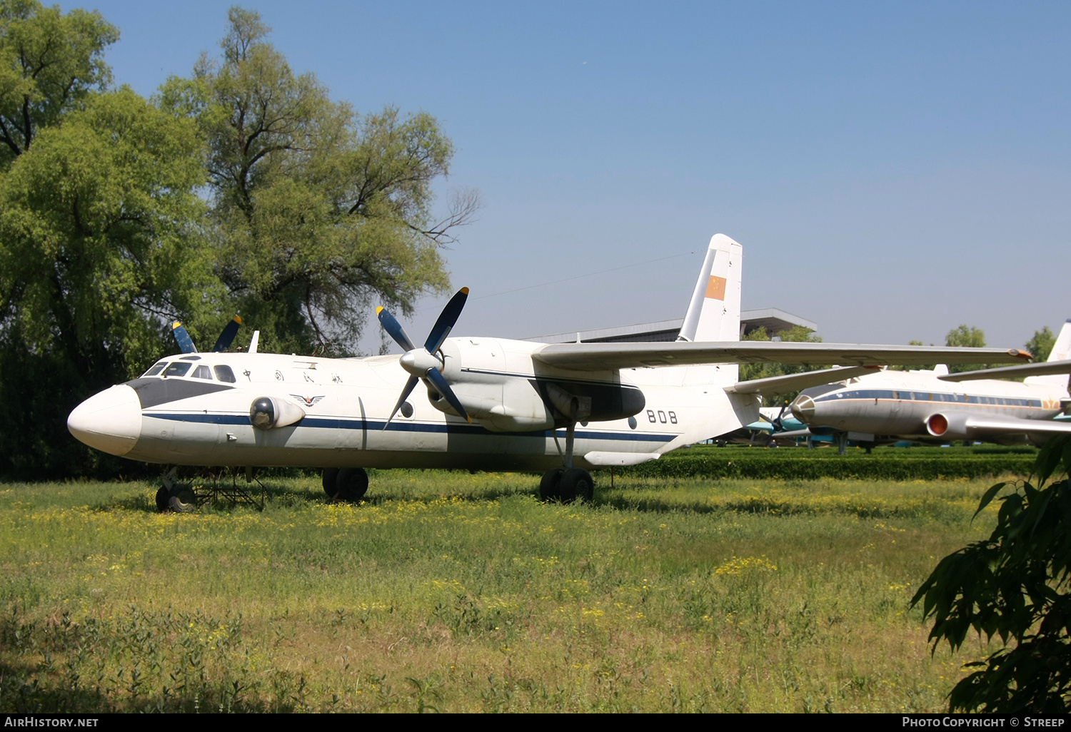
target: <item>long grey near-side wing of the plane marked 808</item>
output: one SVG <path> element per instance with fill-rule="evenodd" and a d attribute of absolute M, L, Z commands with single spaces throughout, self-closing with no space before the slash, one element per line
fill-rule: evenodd
<path fill-rule="evenodd" d="M 793 366 L 888 366 L 991 364 L 1029 359 L 1019 349 L 934 346 L 860 346 L 770 340 L 662 344 L 553 344 L 532 353 L 547 366 L 579 371 L 697 364 L 788 364 Z"/>

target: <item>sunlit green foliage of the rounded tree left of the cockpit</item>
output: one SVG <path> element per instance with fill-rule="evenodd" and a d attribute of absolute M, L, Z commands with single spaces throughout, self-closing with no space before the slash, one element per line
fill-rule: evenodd
<path fill-rule="evenodd" d="M 121 380 L 159 355 L 166 320 L 199 309 L 213 276 L 193 226 L 198 149 L 193 125 L 122 89 L 19 156 L 0 190 L 2 315 L 29 348 Z"/>

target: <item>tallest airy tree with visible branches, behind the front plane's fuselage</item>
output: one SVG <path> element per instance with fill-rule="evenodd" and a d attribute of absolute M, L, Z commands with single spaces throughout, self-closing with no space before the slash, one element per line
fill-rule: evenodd
<path fill-rule="evenodd" d="M 448 287 L 439 247 L 478 200 L 434 220 L 453 155 L 434 118 L 360 117 L 295 74 L 256 13 L 229 21 L 222 58 L 162 90 L 208 142 L 220 276 L 265 348 L 351 352 L 374 298 L 409 314 Z"/>

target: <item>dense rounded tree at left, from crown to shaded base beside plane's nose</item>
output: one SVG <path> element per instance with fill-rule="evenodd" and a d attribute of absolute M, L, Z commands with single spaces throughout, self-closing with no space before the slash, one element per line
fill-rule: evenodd
<path fill-rule="evenodd" d="M 42 129 L 0 177 L 0 472 L 99 459 L 67 412 L 156 359 L 176 314 L 212 306 L 200 150 L 188 120 L 122 89 Z"/>

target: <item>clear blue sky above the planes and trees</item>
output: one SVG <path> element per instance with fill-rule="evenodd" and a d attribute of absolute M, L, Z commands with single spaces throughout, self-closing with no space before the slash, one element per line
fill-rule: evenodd
<path fill-rule="evenodd" d="M 63 6 L 120 28 L 107 60 L 147 95 L 216 54 L 228 7 Z M 1071 318 L 1067 3 L 244 6 L 335 100 L 431 112 L 454 141 L 441 192 L 483 198 L 446 253 L 472 292 L 457 335 L 681 317 L 719 231 L 744 308 L 827 341 L 967 323 L 1021 346 Z"/>

